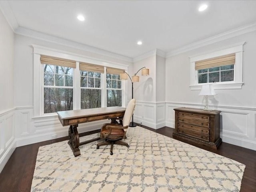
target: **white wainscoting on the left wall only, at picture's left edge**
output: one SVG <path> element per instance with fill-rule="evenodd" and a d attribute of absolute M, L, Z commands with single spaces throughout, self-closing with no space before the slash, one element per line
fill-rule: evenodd
<path fill-rule="evenodd" d="M 16 148 L 15 109 L 0 114 L 0 172 Z"/>

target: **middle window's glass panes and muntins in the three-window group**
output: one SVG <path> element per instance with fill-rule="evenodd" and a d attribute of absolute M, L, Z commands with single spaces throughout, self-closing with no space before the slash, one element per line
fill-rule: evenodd
<path fill-rule="evenodd" d="M 81 109 L 101 107 L 101 73 L 80 70 Z"/>

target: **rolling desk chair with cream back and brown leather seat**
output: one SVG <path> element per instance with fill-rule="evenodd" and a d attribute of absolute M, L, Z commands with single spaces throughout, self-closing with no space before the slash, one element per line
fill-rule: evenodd
<path fill-rule="evenodd" d="M 122 142 L 120 140 L 125 138 L 128 125 L 130 123 L 133 110 L 135 108 L 135 99 L 130 100 L 128 106 L 124 112 L 124 117 L 120 121 L 122 124 L 111 124 L 106 123 L 102 126 L 100 131 L 100 138 L 106 138 L 105 142 L 98 143 L 97 149 L 102 145 L 111 144 L 110 155 L 113 155 L 113 145 L 120 144 L 129 147 L 128 143 Z"/>

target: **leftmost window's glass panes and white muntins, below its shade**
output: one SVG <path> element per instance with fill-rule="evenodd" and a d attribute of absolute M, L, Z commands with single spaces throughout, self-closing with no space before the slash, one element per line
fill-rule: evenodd
<path fill-rule="evenodd" d="M 44 64 L 44 114 L 73 110 L 73 68 Z"/>

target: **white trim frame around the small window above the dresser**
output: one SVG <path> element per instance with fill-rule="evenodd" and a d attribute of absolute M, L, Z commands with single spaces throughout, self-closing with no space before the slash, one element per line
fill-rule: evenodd
<path fill-rule="evenodd" d="M 230 46 L 222 47 L 217 50 L 212 50 L 198 56 L 190 56 L 190 90 L 201 90 L 202 85 L 212 84 L 214 89 L 241 89 L 243 80 L 243 45 L 245 42 L 236 43 Z M 214 82 L 198 84 L 198 73 L 195 70 L 196 61 L 223 56 L 235 53 L 234 65 L 234 81 L 230 82 Z"/>

